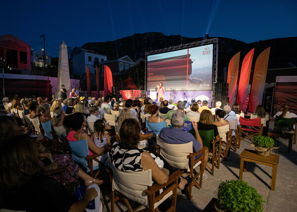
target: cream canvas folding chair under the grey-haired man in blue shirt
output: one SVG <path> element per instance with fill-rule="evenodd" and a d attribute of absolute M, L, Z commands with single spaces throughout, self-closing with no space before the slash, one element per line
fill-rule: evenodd
<path fill-rule="evenodd" d="M 205 169 L 201 169 L 198 173 L 194 175 L 194 169 L 198 167 L 201 163 L 207 163 L 204 161 L 204 155 L 206 154 L 207 147 L 203 146 L 202 150 L 198 152 L 193 152 L 193 142 L 184 143 L 184 144 L 169 144 L 159 137 L 157 137 L 157 153 L 160 154 L 172 167 L 179 170 L 184 170 L 185 173 L 193 177 L 193 182 L 189 185 L 189 194 L 188 199 L 191 200 L 192 188 L 196 186 L 198 189 L 202 187 L 203 172 Z M 197 159 L 196 156 L 200 155 Z M 199 183 L 196 179 L 199 178 Z"/>

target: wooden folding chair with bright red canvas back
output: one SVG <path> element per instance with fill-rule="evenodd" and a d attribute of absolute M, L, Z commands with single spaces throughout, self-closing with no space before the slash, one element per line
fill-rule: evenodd
<path fill-rule="evenodd" d="M 263 124 L 261 124 L 261 118 L 256 118 L 256 119 L 245 119 L 243 117 L 239 118 L 239 122 L 241 126 L 240 129 L 240 135 L 244 133 L 246 135 L 246 138 L 251 138 L 254 135 L 262 135 L 263 132 Z"/>

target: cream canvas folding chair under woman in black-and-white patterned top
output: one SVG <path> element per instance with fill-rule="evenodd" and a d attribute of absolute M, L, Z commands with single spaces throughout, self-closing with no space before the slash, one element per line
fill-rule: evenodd
<path fill-rule="evenodd" d="M 149 212 L 158 212 L 157 207 L 171 196 L 173 197 L 172 204 L 167 212 L 175 212 L 178 178 L 183 174 L 182 171 L 172 173 L 168 178 L 168 182 L 163 185 L 153 185 L 151 170 L 124 172 L 113 166 L 109 156 L 108 166 L 111 171 L 111 212 L 114 212 L 114 203 L 118 201 L 120 197 L 123 198 L 129 212 L 144 209 L 147 209 Z M 155 193 L 160 189 L 163 189 L 163 192 L 156 195 Z M 115 192 L 118 194 L 117 196 L 115 196 Z M 136 209 L 132 209 L 128 199 L 139 203 L 140 206 Z"/>

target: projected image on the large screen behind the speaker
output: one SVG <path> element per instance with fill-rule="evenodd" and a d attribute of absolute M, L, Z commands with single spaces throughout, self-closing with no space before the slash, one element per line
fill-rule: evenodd
<path fill-rule="evenodd" d="M 213 45 L 148 56 L 147 89 L 211 90 Z"/>

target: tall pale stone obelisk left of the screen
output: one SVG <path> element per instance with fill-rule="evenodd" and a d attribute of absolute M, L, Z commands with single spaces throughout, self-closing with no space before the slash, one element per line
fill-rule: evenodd
<path fill-rule="evenodd" d="M 67 96 L 69 96 L 69 92 L 71 92 L 71 86 L 70 86 L 67 45 L 64 41 L 62 41 L 60 44 L 57 91 L 54 94 L 55 98 L 61 96 L 62 85 L 65 85 L 66 90 L 69 87 L 69 90 L 67 92 Z"/>

